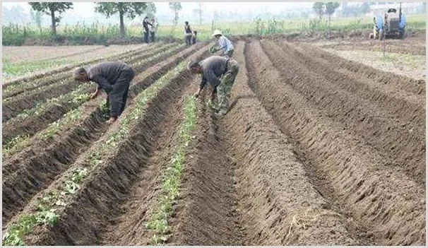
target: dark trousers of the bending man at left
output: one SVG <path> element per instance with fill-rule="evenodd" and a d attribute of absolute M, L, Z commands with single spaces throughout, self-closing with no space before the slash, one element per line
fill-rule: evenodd
<path fill-rule="evenodd" d="M 110 117 L 119 117 L 125 110 L 126 100 L 128 100 L 129 85 L 135 76 L 133 69 L 124 69 L 113 85 L 112 91 L 108 95 Z"/>

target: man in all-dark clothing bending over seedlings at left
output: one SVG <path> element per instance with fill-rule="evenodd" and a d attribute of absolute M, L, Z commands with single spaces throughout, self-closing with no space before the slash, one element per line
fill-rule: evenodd
<path fill-rule="evenodd" d="M 128 99 L 129 85 L 135 75 L 133 69 L 122 62 L 103 62 L 79 68 L 75 72 L 75 79 L 81 82 L 93 81 L 98 88 L 95 93 L 90 94 L 93 99 L 99 95 L 100 90 L 107 93 L 107 102 L 110 110 L 110 118 L 107 122 L 112 123 L 124 112 L 126 100 Z"/>

